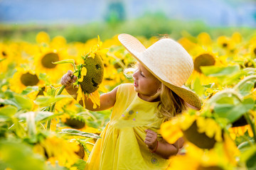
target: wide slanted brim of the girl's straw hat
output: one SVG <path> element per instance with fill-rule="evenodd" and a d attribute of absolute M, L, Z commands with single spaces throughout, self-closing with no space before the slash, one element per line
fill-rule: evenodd
<path fill-rule="evenodd" d="M 147 70 L 149 70 L 149 72 L 151 72 L 151 74 L 154 75 L 154 77 L 156 77 L 156 79 L 159 79 L 159 81 L 161 81 L 164 85 L 168 86 L 169 89 L 174 91 L 174 93 L 181 97 L 183 101 L 186 101 L 186 103 L 197 108 L 198 110 L 201 109 L 201 101 L 193 91 L 186 89 L 185 86 L 179 87 L 166 82 L 152 72 L 150 69 L 150 63 L 146 61 L 146 58 L 142 55 L 142 52 L 146 50 L 146 47 L 144 47 L 144 45 L 142 45 L 137 38 L 134 38 L 129 34 L 120 34 L 118 35 L 118 39 L 122 45 L 138 60 L 138 62 L 140 62 Z"/>

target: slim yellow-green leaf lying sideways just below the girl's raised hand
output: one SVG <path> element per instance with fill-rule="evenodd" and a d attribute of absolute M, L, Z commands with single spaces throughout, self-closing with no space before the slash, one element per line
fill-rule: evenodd
<path fill-rule="evenodd" d="M 50 106 L 51 103 L 55 103 L 57 101 L 61 101 L 63 98 L 71 98 L 71 96 L 64 96 L 64 95 L 59 95 L 59 96 L 38 96 L 36 98 L 36 103 L 38 106 Z"/>

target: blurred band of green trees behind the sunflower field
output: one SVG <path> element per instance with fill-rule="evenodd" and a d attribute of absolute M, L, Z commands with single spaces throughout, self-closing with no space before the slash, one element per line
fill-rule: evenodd
<path fill-rule="evenodd" d="M 118 10 L 121 12 L 118 12 Z M 233 32 L 239 31 L 243 37 L 251 35 L 254 28 L 210 28 L 201 21 L 177 21 L 169 19 L 164 13 L 146 12 L 143 16 L 124 20 L 124 16 L 117 13 L 125 13 L 121 7 L 115 13 L 106 14 L 105 22 L 87 23 L 85 25 L 23 25 L 23 26 L 0 26 L 0 40 L 25 40 L 36 42 L 36 34 L 40 31 L 46 31 L 50 38 L 56 35 L 63 35 L 67 42 L 86 42 L 100 35 L 104 41 L 112 38 L 119 33 L 129 33 L 134 36 L 151 36 L 170 35 L 171 38 L 178 39 L 181 37 L 197 36 L 201 32 L 206 32 L 215 38 L 220 35 L 232 35 Z M 121 15 L 121 14 L 120 14 Z M 122 22 L 120 22 L 122 21 Z"/>

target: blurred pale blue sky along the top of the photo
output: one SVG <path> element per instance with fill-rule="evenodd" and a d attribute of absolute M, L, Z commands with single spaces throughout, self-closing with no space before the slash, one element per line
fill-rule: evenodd
<path fill-rule="evenodd" d="M 102 22 L 110 4 L 121 2 L 127 19 L 162 12 L 181 21 L 209 26 L 256 27 L 256 1 L 250 0 L 0 0 L 0 23 Z"/>

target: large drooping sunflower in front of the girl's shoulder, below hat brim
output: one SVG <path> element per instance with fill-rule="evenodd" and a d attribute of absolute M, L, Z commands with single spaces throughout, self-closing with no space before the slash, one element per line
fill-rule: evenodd
<path fill-rule="evenodd" d="M 216 142 L 222 142 L 222 129 L 213 118 L 206 118 L 189 111 L 161 125 L 161 134 L 169 143 L 179 137 L 203 149 L 211 149 Z"/>

